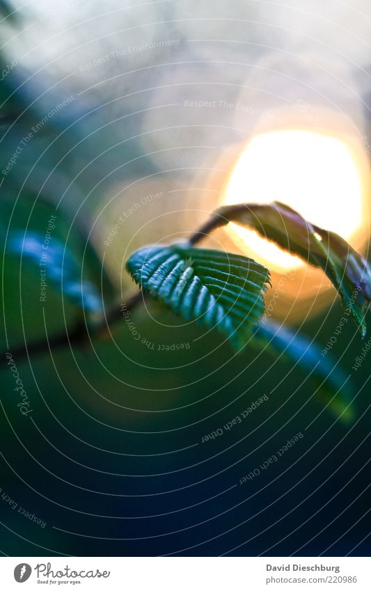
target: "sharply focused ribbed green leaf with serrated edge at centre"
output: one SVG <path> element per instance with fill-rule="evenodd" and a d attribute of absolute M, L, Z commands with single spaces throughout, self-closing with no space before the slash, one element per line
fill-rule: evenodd
<path fill-rule="evenodd" d="M 183 244 L 149 246 L 126 264 L 143 290 L 185 320 L 215 328 L 239 349 L 262 317 L 269 271 L 244 256 Z"/>

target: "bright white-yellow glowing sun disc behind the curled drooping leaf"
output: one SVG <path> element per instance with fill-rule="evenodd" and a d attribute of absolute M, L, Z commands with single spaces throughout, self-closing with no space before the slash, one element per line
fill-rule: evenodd
<path fill-rule="evenodd" d="M 368 219 L 363 175 L 356 152 L 344 141 L 305 130 L 278 130 L 248 143 L 226 184 L 223 203 L 282 201 L 352 244 Z M 227 231 L 246 254 L 278 273 L 303 264 L 251 230 L 229 224 Z"/>

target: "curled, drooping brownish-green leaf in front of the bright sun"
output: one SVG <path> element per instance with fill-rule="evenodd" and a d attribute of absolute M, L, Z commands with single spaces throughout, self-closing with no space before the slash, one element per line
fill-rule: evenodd
<path fill-rule="evenodd" d="M 365 311 L 371 301 L 371 270 L 365 258 L 344 239 L 306 221 L 291 207 L 278 201 L 268 205 L 221 207 L 214 216 L 220 218 L 220 223 L 216 222 L 214 226 L 228 221 L 248 226 L 286 251 L 299 255 L 309 265 L 323 269 L 365 336 Z"/>

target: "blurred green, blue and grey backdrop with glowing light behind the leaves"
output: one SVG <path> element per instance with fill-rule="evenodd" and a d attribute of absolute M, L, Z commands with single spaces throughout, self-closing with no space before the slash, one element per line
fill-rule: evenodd
<path fill-rule="evenodd" d="M 0 6 L 1 553 L 370 554 L 369 336 L 254 233 L 205 244 L 272 270 L 296 358 L 148 302 L 16 354 L 125 303 L 129 254 L 223 203 L 281 200 L 368 257 L 368 3 Z"/>

